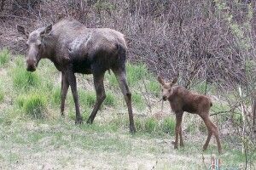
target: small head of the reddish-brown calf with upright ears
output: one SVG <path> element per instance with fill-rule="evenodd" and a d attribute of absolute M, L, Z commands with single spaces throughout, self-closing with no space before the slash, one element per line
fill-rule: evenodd
<path fill-rule="evenodd" d="M 158 82 L 161 84 L 162 88 L 162 99 L 166 101 L 173 94 L 173 85 L 177 82 L 177 78 L 174 78 L 170 82 L 165 82 L 160 76 L 157 77 Z"/>

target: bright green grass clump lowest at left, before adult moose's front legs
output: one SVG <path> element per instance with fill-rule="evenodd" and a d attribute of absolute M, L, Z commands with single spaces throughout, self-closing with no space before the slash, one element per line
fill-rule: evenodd
<path fill-rule="evenodd" d="M 20 95 L 17 99 L 17 104 L 25 111 L 26 115 L 34 118 L 44 118 L 47 116 L 47 98 L 44 94 L 31 92 L 27 95 Z"/>

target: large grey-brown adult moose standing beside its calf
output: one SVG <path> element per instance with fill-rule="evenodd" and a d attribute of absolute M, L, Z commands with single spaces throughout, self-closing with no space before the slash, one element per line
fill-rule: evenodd
<path fill-rule="evenodd" d="M 68 87 L 71 87 L 76 110 L 76 123 L 83 122 L 79 111 L 79 97 L 75 73 L 93 74 L 96 89 L 96 104 L 88 123 L 92 123 L 96 113 L 106 98 L 103 85 L 104 74 L 112 70 L 119 82 L 128 107 L 130 131 L 136 131 L 131 108 L 131 92 L 126 81 L 125 38 L 119 31 L 109 28 L 87 28 L 77 20 L 65 19 L 54 26 L 38 28 L 28 33 L 23 26 L 19 32 L 28 37 L 26 42 L 26 70 L 36 71 L 40 59 L 50 59 L 61 71 L 61 115 Z"/>

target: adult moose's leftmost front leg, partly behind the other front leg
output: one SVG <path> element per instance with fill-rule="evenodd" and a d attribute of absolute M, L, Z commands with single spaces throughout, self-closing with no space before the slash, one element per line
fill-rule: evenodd
<path fill-rule="evenodd" d="M 61 116 L 64 116 L 65 100 L 67 97 L 67 90 L 69 87 L 67 74 L 61 72 Z"/>

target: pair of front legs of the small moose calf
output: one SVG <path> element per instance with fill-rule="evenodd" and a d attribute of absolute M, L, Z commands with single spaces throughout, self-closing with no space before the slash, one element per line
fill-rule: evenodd
<path fill-rule="evenodd" d="M 180 137 L 180 145 L 183 146 L 182 127 L 181 127 L 182 121 L 183 121 L 183 112 L 177 112 L 176 113 L 174 149 L 177 149 L 178 135 Z"/>

